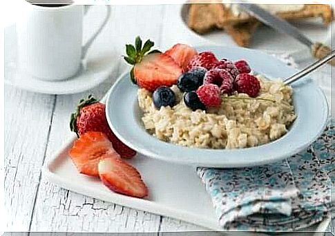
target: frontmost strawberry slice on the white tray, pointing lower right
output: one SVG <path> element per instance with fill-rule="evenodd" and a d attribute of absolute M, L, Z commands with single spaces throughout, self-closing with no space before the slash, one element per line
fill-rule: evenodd
<path fill-rule="evenodd" d="M 100 179 L 111 191 L 141 198 L 148 195 L 148 189 L 137 169 L 120 158 L 102 159 L 98 169 Z"/>

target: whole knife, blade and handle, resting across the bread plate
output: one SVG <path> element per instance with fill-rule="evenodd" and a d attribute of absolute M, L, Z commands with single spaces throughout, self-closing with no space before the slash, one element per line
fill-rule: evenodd
<path fill-rule="evenodd" d="M 323 58 L 332 52 L 332 50 L 326 45 L 323 45 L 322 43 L 313 43 L 293 25 L 283 19 L 280 19 L 279 17 L 274 16 L 256 4 L 239 3 L 239 6 L 242 10 L 245 10 L 259 21 L 262 21 L 262 23 L 265 23 L 265 25 L 269 25 L 271 28 L 292 36 L 294 39 L 300 41 L 300 43 L 305 44 L 309 47 L 312 55 L 316 58 Z M 329 61 L 328 63 L 335 66 L 335 59 Z"/>

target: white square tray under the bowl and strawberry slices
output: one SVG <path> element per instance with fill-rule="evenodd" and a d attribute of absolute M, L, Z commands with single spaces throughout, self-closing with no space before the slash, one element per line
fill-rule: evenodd
<path fill-rule="evenodd" d="M 209 230 L 222 230 L 211 199 L 193 167 L 137 154 L 129 162 L 140 171 L 150 193 L 146 199 L 128 197 L 109 191 L 97 178 L 78 173 L 68 156 L 73 140 L 75 136 L 44 165 L 43 173 L 50 182 L 106 202 L 173 217 Z M 305 230 L 325 232 L 329 222 L 327 218 Z"/>

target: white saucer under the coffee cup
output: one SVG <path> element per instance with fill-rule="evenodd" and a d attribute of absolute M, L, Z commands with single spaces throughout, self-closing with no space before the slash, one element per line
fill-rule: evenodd
<path fill-rule="evenodd" d="M 94 43 L 93 43 L 94 44 Z M 97 50 L 93 47 L 90 50 Z M 93 54 L 93 55 L 92 55 Z M 104 82 L 113 72 L 117 60 L 105 49 L 88 52 L 85 66 L 73 77 L 63 81 L 42 81 L 21 72 L 17 65 L 17 34 L 15 25 L 5 29 L 5 84 L 42 94 L 76 94 Z"/>

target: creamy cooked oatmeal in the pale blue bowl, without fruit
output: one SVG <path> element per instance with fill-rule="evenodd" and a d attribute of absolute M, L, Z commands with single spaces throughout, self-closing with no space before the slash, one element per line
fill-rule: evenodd
<path fill-rule="evenodd" d="M 155 108 L 152 93 L 138 89 L 138 103 L 143 111 L 146 131 L 165 142 L 186 147 L 236 149 L 254 147 L 276 140 L 287 133 L 296 118 L 292 89 L 280 81 L 257 76 L 260 93 L 222 95 L 220 107 L 192 111 L 183 101 L 177 86 L 176 105 Z M 246 98 L 246 99 L 242 99 Z"/>

